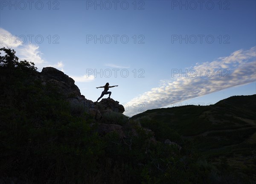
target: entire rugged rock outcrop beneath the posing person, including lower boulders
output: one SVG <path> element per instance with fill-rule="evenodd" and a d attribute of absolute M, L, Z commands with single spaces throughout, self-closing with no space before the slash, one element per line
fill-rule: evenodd
<path fill-rule="evenodd" d="M 43 85 L 50 84 L 55 89 L 56 93 L 61 94 L 61 98 L 70 103 L 73 109 L 82 109 L 94 117 L 95 122 L 91 125 L 97 124 L 97 131 L 99 134 L 105 135 L 107 133 L 116 132 L 120 139 L 127 137 L 138 136 L 136 130 L 130 127 L 129 136 L 127 135 L 128 118 L 122 113 L 125 111 L 124 107 L 118 101 L 113 99 L 102 99 L 100 102 L 93 102 L 81 95 L 79 88 L 75 85 L 75 81 L 56 68 L 47 67 L 38 72 L 38 79 L 42 81 Z M 140 125 L 141 127 L 141 125 Z M 146 133 L 153 133 L 149 129 L 145 129 Z M 154 134 L 154 133 L 153 133 Z"/>

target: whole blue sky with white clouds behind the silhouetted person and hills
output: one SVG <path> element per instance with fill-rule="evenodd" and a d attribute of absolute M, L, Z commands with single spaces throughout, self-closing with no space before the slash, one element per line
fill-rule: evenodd
<path fill-rule="evenodd" d="M 0 0 L 0 47 L 127 116 L 256 93 L 255 0 Z"/>

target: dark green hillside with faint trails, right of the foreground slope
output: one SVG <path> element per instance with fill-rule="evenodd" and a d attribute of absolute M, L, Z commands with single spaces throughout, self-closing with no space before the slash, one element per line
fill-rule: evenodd
<path fill-rule="evenodd" d="M 209 106 L 147 110 L 131 119 L 140 119 L 160 140 L 168 136 L 163 129 L 172 129 L 207 160 L 225 161 L 256 181 L 256 95 L 231 96 Z"/>

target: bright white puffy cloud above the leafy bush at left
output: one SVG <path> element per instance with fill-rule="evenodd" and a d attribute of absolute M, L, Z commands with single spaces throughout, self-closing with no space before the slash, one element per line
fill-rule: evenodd
<path fill-rule="evenodd" d="M 34 62 L 38 69 L 42 69 L 47 66 L 52 66 L 54 68 L 64 71 L 64 64 L 60 61 L 57 64 L 49 63 L 42 59 L 43 53 L 39 50 L 39 46 L 30 44 L 23 44 L 17 35 L 11 34 L 3 28 L 0 28 L 0 48 L 8 47 L 15 48 L 16 55 L 21 60 L 26 59 L 28 62 Z"/>

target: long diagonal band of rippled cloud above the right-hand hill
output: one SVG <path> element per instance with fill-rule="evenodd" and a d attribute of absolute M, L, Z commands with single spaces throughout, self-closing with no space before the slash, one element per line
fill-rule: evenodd
<path fill-rule="evenodd" d="M 183 73 L 180 73 L 182 71 Z M 186 74 L 184 74 L 186 71 Z M 172 78 L 161 80 L 152 88 L 128 102 L 128 106 L 142 105 L 143 110 L 161 108 L 209 93 L 221 91 L 256 80 L 256 47 L 238 50 L 227 57 L 212 62 L 196 63 L 192 68 L 172 69 Z M 138 111 L 129 108 L 125 114 L 133 116 Z"/>

